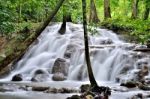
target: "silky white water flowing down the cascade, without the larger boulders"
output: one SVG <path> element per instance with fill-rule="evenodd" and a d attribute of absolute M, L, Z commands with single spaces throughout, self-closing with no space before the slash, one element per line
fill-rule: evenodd
<path fill-rule="evenodd" d="M 16 74 L 22 74 L 24 81 L 30 81 L 38 69 L 44 70 L 48 74 L 47 81 L 51 81 L 53 64 L 57 58 L 64 58 L 68 45 L 72 45 L 73 52 L 71 58 L 66 59 L 69 63 L 67 79 L 78 80 L 80 76 L 80 80 L 87 80 L 82 25 L 67 23 L 64 35 L 58 33 L 60 26 L 60 23 L 48 26 L 36 44 L 32 45 L 16 64 L 16 69 L 0 81 L 10 81 Z M 134 44 L 123 42 L 112 31 L 98 28 L 97 32 L 95 36 L 89 36 L 92 68 L 96 80 L 114 81 L 126 64 L 136 68 L 137 60 L 132 55 L 135 53 L 131 51 Z M 106 41 L 113 43 L 103 44 L 107 43 Z M 128 49 L 130 47 L 131 49 Z"/>

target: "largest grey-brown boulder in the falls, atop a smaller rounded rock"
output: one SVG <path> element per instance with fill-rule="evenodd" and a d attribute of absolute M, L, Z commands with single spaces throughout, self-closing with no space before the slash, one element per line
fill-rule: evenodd
<path fill-rule="evenodd" d="M 62 73 L 63 75 L 68 75 L 69 64 L 63 58 L 57 58 L 55 60 L 54 66 L 52 68 L 52 73 Z"/>

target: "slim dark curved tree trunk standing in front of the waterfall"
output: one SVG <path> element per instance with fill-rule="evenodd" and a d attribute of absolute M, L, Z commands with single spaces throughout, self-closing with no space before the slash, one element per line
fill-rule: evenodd
<path fill-rule="evenodd" d="M 85 44 L 85 59 L 88 69 L 89 80 L 92 87 L 98 86 L 94 78 L 92 66 L 90 62 L 89 55 L 89 44 L 88 44 L 88 34 L 87 34 L 87 21 L 86 21 L 86 0 L 82 0 L 82 10 L 83 10 L 83 28 L 84 28 L 84 44 Z"/>

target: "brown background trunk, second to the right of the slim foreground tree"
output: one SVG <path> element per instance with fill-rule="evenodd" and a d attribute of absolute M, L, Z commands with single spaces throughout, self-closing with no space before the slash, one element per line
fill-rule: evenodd
<path fill-rule="evenodd" d="M 109 0 L 104 0 L 104 18 L 111 18 L 110 14 L 110 1 Z"/>

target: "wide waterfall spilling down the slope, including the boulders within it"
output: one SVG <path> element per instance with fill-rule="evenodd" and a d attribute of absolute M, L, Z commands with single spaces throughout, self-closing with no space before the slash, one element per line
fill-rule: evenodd
<path fill-rule="evenodd" d="M 63 35 L 58 33 L 60 26 L 61 23 L 48 26 L 16 68 L 1 81 L 10 81 L 18 74 L 22 75 L 23 81 L 87 80 L 82 25 L 67 23 Z M 136 44 L 126 43 L 106 29 L 97 28 L 96 31 L 95 36 L 89 35 L 96 80 L 135 79 L 136 72 L 146 66 L 149 68 L 150 56 L 133 51 Z"/>

